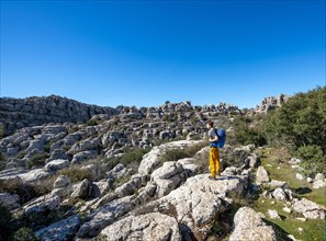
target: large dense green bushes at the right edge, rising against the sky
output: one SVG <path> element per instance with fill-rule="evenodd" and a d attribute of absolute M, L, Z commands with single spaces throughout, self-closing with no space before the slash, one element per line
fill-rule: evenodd
<path fill-rule="evenodd" d="M 268 141 L 286 147 L 302 159 L 311 174 L 326 173 L 326 87 L 299 93 L 268 114 L 263 127 Z"/>

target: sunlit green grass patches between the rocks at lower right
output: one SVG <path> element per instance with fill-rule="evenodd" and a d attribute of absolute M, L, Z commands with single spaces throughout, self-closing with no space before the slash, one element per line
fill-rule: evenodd
<path fill-rule="evenodd" d="M 306 182 L 306 179 L 300 181 L 295 177 L 297 173 L 288 164 L 291 156 L 284 149 L 265 149 L 261 158 L 261 164 L 268 171 L 271 180 L 285 181 L 289 187 L 293 191 L 296 197 L 305 197 L 314 203 L 326 205 L 325 192 L 326 188 L 314 190 L 313 185 Z M 278 169 L 280 167 L 280 169 Z M 308 192 L 300 193 L 300 188 L 306 188 Z M 271 204 L 274 202 L 274 204 Z M 293 234 L 295 239 L 304 241 L 322 241 L 326 240 L 326 227 L 325 220 L 307 219 L 306 221 L 296 220 L 296 217 L 303 217 L 301 214 L 291 213 L 288 214 L 282 210 L 284 204 L 277 199 L 268 199 L 266 197 L 259 197 L 254 202 L 252 208 L 256 211 L 260 211 L 266 216 L 266 222 L 273 226 L 278 240 L 286 240 L 286 236 Z M 268 217 L 267 210 L 276 209 L 282 220 L 274 220 Z M 299 228 L 303 231 L 300 232 Z"/>

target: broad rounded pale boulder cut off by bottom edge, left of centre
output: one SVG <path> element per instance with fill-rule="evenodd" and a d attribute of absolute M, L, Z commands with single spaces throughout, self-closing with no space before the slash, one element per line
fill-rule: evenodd
<path fill-rule="evenodd" d="M 119 230 L 119 232 L 116 232 Z M 115 233 L 112 236 L 112 233 Z M 108 241 L 157 240 L 181 241 L 178 222 L 175 218 L 159 213 L 130 216 L 108 226 L 100 237 Z"/>

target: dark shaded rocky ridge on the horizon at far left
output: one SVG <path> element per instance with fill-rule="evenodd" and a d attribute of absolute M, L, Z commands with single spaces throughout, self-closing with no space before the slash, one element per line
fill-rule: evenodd
<path fill-rule="evenodd" d="M 117 114 L 115 108 L 83 104 L 66 97 L 50 95 L 46 97 L 0 99 L 0 122 L 5 125 L 5 135 L 18 128 L 36 126 L 45 123 L 86 123 L 92 115 Z M 31 129 L 25 130 L 31 131 Z M 61 125 L 48 125 L 45 134 L 66 131 Z"/>

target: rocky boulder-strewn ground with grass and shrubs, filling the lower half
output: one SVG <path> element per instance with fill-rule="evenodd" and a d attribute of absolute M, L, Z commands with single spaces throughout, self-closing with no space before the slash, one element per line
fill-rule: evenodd
<path fill-rule="evenodd" d="M 23 127 L 0 140 L 9 227 L 27 227 L 41 240 L 323 239 L 326 180 L 301 176 L 300 160 L 226 146 L 222 176 L 209 179 L 204 122 L 232 134 L 237 107 L 115 111 L 87 124 Z"/>

